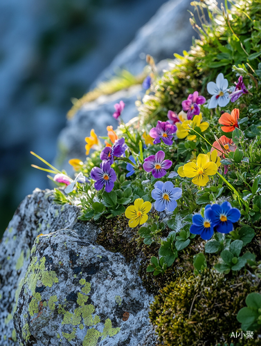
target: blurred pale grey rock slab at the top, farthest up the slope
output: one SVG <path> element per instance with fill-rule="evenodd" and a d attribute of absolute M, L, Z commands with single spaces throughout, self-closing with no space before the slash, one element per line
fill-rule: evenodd
<path fill-rule="evenodd" d="M 156 15 L 145 24 L 135 39 L 114 58 L 102 71 L 93 87 L 99 82 L 111 78 L 116 69 L 126 69 L 134 75 L 143 71 L 145 57 L 150 54 L 156 62 L 173 58 L 173 53 L 181 54 L 192 44 L 192 36 L 197 33 L 190 25 L 190 13 L 193 11 L 190 0 L 171 0 L 164 3 Z"/>

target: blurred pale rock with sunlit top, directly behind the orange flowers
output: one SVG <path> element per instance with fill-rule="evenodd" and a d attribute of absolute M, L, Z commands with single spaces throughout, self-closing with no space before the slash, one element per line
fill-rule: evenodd
<path fill-rule="evenodd" d="M 58 138 L 58 159 L 60 167 L 70 172 L 68 160 L 70 158 L 81 158 L 85 155 L 85 137 L 90 135 L 91 129 L 96 131 L 97 136 L 107 136 L 107 126 L 118 127 L 118 121 L 113 118 L 114 104 L 123 100 L 123 121 L 128 122 L 138 114 L 135 106 L 137 99 L 144 95 L 141 85 L 134 85 L 129 89 L 118 91 L 113 95 L 102 95 L 97 100 L 84 104 L 75 116 L 68 120 L 66 127 Z M 104 143 L 102 141 L 102 143 Z"/>

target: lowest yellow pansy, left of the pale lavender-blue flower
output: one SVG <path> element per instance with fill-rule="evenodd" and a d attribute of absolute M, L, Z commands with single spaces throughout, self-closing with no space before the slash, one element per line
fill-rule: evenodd
<path fill-rule="evenodd" d="M 152 203 L 144 202 L 143 199 L 138 198 L 134 201 L 134 206 L 129 206 L 125 210 L 125 217 L 129 219 L 129 227 L 134 228 L 138 224 L 145 224 L 147 221 L 147 213 L 151 210 Z"/>

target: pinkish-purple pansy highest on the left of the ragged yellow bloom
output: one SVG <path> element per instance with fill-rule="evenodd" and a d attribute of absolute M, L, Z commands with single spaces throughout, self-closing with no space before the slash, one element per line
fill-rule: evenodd
<path fill-rule="evenodd" d="M 150 130 L 150 136 L 155 138 L 153 143 L 159 144 L 161 143 L 161 139 L 163 143 L 166 145 L 172 145 L 172 134 L 177 131 L 176 125 L 171 125 L 168 121 L 158 121 L 156 127 Z"/>

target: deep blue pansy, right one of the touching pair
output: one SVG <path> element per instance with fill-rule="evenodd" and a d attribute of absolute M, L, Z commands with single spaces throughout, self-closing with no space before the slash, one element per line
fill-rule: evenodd
<path fill-rule="evenodd" d="M 231 203 L 224 202 L 221 206 L 213 204 L 213 223 L 219 233 L 229 233 L 233 230 L 233 224 L 240 219 L 240 210 L 232 208 Z"/>

